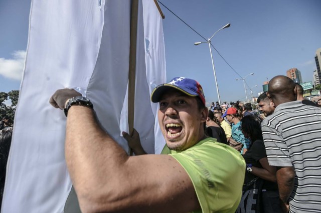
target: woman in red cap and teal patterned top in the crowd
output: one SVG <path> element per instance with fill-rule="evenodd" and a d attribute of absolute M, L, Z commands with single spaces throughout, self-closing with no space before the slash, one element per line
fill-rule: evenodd
<path fill-rule="evenodd" d="M 226 114 L 224 113 L 223 116 L 226 116 L 227 120 L 232 124 L 231 137 L 243 144 L 240 152 L 244 154 L 250 146 L 250 140 L 245 138 L 241 131 L 241 119 L 243 117 L 241 108 L 239 105 L 232 106 L 226 110 Z"/>

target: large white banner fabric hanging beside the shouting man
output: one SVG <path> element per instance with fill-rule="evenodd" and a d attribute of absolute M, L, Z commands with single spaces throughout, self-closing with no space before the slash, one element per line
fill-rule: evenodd
<path fill-rule="evenodd" d="M 102 126 L 128 150 L 120 122 L 127 122 L 130 5 L 32 1 L 2 212 L 63 212 L 72 183 L 64 157 L 66 117 L 48 102 L 57 89 L 86 89 Z M 150 104 L 149 93 L 166 81 L 165 47 L 154 2 L 142 0 L 139 6 L 134 127 L 151 153 L 156 104 Z"/>

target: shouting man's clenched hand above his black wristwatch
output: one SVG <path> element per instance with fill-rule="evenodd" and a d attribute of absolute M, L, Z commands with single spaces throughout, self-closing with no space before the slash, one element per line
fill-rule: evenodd
<path fill-rule="evenodd" d="M 81 96 L 81 94 L 75 89 L 64 88 L 58 89 L 49 100 L 49 103 L 55 108 L 63 109 L 66 107 L 67 101 L 75 96 Z"/>

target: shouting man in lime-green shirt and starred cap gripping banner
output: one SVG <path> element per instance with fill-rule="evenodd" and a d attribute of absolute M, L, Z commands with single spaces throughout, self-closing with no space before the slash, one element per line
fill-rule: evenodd
<path fill-rule="evenodd" d="M 167 154 L 160 155 L 128 156 L 99 126 L 90 100 L 79 95 L 60 89 L 50 103 L 68 114 L 66 162 L 83 212 L 235 211 L 245 162 L 206 136 L 208 109 L 196 80 L 176 77 L 152 91 L 166 139 Z"/>

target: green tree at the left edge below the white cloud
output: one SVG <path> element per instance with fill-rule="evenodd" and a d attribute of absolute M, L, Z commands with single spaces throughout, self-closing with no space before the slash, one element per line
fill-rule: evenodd
<path fill-rule="evenodd" d="M 5 103 L 10 98 L 11 105 Z M 19 90 L 11 90 L 10 92 L 0 92 L 0 114 L 1 118 L 8 116 L 10 119 L 15 119 L 16 106 L 19 98 Z"/>

